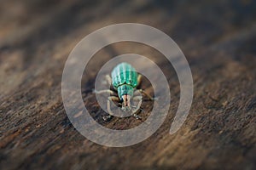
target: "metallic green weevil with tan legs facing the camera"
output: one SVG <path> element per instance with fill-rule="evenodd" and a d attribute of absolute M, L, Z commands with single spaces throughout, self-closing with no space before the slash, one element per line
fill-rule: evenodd
<path fill-rule="evenodd" d="M 106 76 L 108 85 L 113 87 L 113 90 L 106 89 L 101 91 L 95 91 L 96 94 L 108 93 L 111 96 L 108 97 L 108 116 L 104 116 L 103 120 L 107 121 L 113 116 L 113 112 L 110 108 L 110 101 L 116 101 L 121 105 L 122 111 L 131 113 L 131 116 L 136 117 L 137 119 L 142 120 L 140 116 L 137 116 L 137 113 L 141 111 L 141 105 L 143 102 L 142 96 L 144 94 L 150 100 L 154 100 L 149 94 L 145 93 L 143 89 L 138 89 L 142 75 L 138 74 L 134 67 L 128 63 L 120 63 L 113 68 L 111 77 Z M 138 105 L 131 105 L 131 99 L 137 100 Z"/>

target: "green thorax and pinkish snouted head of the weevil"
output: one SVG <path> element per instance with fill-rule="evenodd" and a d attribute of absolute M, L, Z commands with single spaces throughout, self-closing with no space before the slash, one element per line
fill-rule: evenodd
<path fill-rule="evenodd" d="M 121 85 L 118 88 L 118 94 L 119 94 L 119 99 L 122 102 L 122 110 L 125 112 L 130 112 L 131 98 L 133 96 L 133 88 L 128 84 Z"/>

